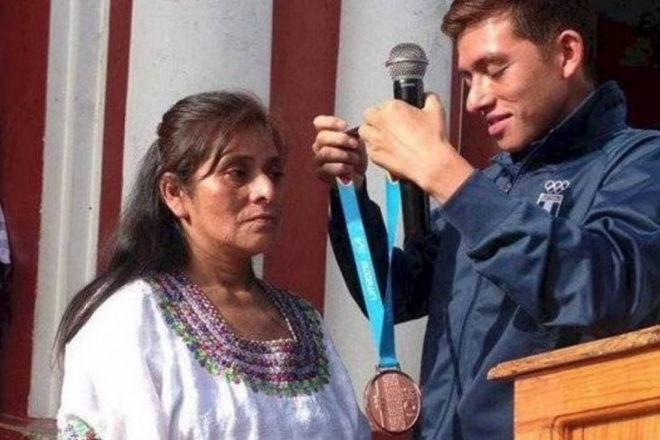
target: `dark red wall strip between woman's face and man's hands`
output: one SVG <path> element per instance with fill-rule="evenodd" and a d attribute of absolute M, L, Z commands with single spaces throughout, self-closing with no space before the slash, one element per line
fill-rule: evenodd
<path fill-rule="evenodd" d="M 270 108 L 288 140 L 288 199 L 266 277 L 323 310 L 327 188 L 312 173 L 312 121 L 333 114 L 341 0 L 273 4 Z"/>

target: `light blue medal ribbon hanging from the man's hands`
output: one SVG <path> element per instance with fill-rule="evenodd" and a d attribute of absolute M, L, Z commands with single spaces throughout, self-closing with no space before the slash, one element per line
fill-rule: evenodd
<path fill-rule="evenodd" d="M 401 190 L 398 182 L 386 179 L 387 212 L 387 284 L 384 297 L 378 286 L 369 241 L 364 231 L 364 223 L 353 182 L 343 183 L 337 179 L 337 189 L 342 202 L 346 229 L 351 241 L 355 267 L 362 287 L 364 304 L 369 314 L 373 344 L 378 348 L 380 370 L 398 369 L 399 360 L 394 346 L 394 314 L 392 310 L 391 255 L 396 239 L 399 212 L 401 211 Z"/>

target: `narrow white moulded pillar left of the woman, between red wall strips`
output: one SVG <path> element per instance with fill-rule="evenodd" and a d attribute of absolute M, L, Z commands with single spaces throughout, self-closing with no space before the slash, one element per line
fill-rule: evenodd
<path fill-rule="evenodd" d="M 30 417 L 55 415 L 55 332 L 73 293 L 96 272 L 108 11 L 109 0 L 51 5 Z"/>

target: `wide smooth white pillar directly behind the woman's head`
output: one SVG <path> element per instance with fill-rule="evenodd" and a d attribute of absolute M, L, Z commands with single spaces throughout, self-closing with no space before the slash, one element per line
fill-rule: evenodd
<path fill-rule="evenodd" d="M 249 89 L 268 106 L 272 1 L 133 2 L 124 188 L 174 102 L 193 93 Z"/>

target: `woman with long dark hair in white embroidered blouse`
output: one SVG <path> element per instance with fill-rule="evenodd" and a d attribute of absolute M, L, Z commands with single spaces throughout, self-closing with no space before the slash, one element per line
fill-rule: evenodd
<path fill-rule="evenodd" d="M 369 437 L 319 315 L 252 272 L 275 239 L 283 149 L 246 94 L 165 113 L 108 269 L 61 322 L 61 437 Z"/>

